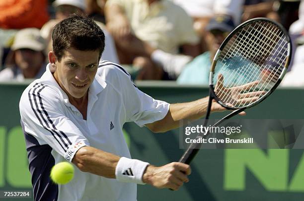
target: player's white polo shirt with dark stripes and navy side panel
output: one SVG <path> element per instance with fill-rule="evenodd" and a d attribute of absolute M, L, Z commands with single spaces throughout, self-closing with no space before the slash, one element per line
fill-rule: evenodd
<path fill-rule="evenodd" d="M 82 146 L 131 158 L 122 133 L 124 123 L 143 127 L 161 120 L 169 104 L 143 93 L 122 67 L 104 61 L 89 88 L 87 120 L 69 102 L 49 65 L 25 89 L 19 108 L 35 201 L 136 201 L 134 183 L 81 172 L 75 166 L 70 183 L 55 185 L 50 170 L 56 163 L 71 162 Z"/>

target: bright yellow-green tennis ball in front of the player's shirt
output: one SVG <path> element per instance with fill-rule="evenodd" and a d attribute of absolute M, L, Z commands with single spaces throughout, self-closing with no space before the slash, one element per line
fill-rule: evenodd
<path fill-rule="evenodd" d="M 69 162 L 57 163 L 53 166 L 50 177 L 56 184 L 67 184 L 74 177 L 74 167 Z"/>

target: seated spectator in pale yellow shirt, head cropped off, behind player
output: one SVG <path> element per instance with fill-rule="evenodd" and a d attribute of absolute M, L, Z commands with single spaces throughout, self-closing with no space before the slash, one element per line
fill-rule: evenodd
<path fill-rule="evenodd" d="M 105 15 L 121 64 L 141 68 L 139 79 L 174 79 L 199 54 L 191 17 L 169 0 L 107 0 Z"/>

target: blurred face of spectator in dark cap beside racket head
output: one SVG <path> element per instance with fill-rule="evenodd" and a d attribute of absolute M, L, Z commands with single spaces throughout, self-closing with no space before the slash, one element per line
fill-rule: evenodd
<path fill-rule="evenodd" d="M 223 32 L 218 29 L 208 31 L 206 34 L 208 50 L 212 54 L 215 54 L 228 34 L 229 32 Z"/>

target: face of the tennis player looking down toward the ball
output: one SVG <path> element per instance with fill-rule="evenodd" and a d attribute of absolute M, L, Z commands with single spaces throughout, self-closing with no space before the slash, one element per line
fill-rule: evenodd
<path fill-rule="evenodd" d="M 69 48 L 60 62 L 56 62 L 55 79 L 61 88 L 74 98 L 85 97 L 94 80 L 99 51 L 80 51 Z"/>

